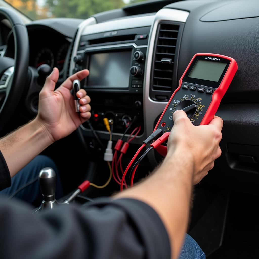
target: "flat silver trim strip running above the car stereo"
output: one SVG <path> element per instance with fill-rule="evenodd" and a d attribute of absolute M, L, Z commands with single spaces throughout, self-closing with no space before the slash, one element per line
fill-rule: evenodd
<path fill-rule="evenodd" d="M 149 15 L 97 23 L 93 26 L 85 27 L 82 35 L 89 35 L 100 32 L 113 32 L 116 30 L 150 26 L 153 20 L 154 15 Z"/>

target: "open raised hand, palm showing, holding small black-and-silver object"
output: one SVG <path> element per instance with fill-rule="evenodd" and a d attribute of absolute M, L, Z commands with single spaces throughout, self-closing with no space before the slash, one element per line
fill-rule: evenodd
<path fill-rule="evenodd" d="M 81 98 L 80 114 L 75 112 L 74 98 L 70 93 L 73 81 L 76 79 L 81 81 L 88 75 L 87 69 L 79 71 L 70 76 L 55 91 L 59 70 L 54 68 L 47 77 L 40 91 L 39 112 L 35 121 L 44 128 L 52 142 L 69 135 L 91 117 L 90 97 L 86 95 L 86 91 L 80 89 L 76 94 L 78 98 Z"/>

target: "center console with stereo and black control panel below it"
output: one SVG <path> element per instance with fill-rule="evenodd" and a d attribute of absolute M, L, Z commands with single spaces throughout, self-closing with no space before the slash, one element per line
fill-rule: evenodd
<path fill-rule="evenodd" d="M 94 25 L 92 25 L 94 26 Z M 143 133 L 143 81 L 150 26 L 110 32 L 85 31 L 73 57 L 73 73 L 89 69 L 81 82 L 91 97 L 91 124 L 105 132 L 103 118 L 113 120 L 113 133 L 123 134 L 133 118 Z M 84 132 L 88 125 L 82 125 Z"/>

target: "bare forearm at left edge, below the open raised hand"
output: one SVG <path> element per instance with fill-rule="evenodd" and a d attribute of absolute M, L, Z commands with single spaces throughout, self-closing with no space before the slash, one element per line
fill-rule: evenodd
<path fill-rule="evenodd" d="M 51 143 L 48 133 L 37 120 L 29 122 L 0 139 L 0 150 L 5 158 L 11 177 Z"/>

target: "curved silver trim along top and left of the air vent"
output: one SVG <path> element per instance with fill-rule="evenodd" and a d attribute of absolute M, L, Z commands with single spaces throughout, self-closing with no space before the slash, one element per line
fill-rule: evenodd
<path fill-rule="evenodd" d="M 145 137 L 148 137 L 154 128 L 154 121 L 163 112 L 164 108 L 167 105 L 167 102 L 155 102 L 149 97 L 150 89 L 150 76 L 151 76 L 151 67 L 152 67 L 152 58 L 153 58 L 153 49 L 155 44 L 156 30 L 160 21 L 177 21 L 185 23 L 189 16 L 189 12 L 163 8 L 159 10 L 151 26 L 151 34 L 148 40 L 147 48 L 147 59 L 145 64 L 145 74 L 144 74 L 144 87 L 143 87 L 143 107 L 144 107 L 144 127 Z M 156 166 L 156 160 L 154 152 L 148 154 L 149 162 L 152 166 Z"/>

